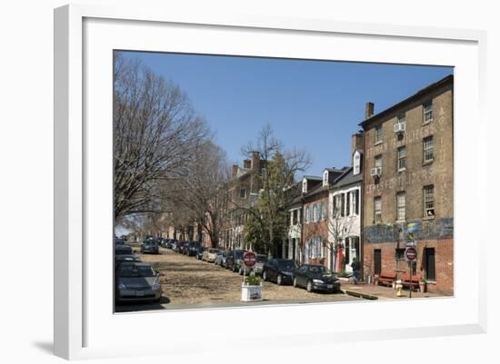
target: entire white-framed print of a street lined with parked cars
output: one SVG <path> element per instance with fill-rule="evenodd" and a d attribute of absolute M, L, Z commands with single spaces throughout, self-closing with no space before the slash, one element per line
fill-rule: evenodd
<path fill-rule="evenodd" d="M 55 10 L 56 355 L 485 331 L 484 33 L 135 10 Z"/>

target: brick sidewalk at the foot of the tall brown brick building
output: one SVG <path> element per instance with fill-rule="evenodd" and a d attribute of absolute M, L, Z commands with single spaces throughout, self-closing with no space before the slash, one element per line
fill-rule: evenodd
<path fill-rule="evenodd" d="M 397 290 L 392 287 L 385 286 L 375 286 L 372 283 L 360 282 L 358 284 L 349 283 L 347 280 L 341 280 L 341 288 L 347 294 L 362 294 L 365 295 L 365 299 L 368 300 L 394 300 L 394 299 L 409 299 L 410 291 L 405 289 L 402 291 L 403 296 L 397 297 Z M 412 299 L 414 298 L 432 298 L 432 297 L 443 297 L 443 295 L 438 293 L 412 291 Z"/>

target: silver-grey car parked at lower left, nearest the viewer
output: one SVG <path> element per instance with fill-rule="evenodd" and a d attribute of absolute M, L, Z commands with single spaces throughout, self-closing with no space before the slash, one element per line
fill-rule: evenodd
<path fill-rule="evenodd" d="M 116 269 L 115 300 L 159 301 L 162 298 L 160 274 L 151 264 L 143 262 L 122 262 Z"/>

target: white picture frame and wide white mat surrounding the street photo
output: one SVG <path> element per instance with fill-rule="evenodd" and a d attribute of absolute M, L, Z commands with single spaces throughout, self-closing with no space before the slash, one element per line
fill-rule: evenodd
<path fill-rule="evenodd" d="M 182 42 L 165 41 L 165 34 L 175 34 Z M 113 49 L 455 66 L 454 172 L 460 176 L 455 178 L 455 296 L 114 314 L 112 245 L 96 243 L 112 236 L 112 53 L 108 51 Z M 313 341 L 328 344 L 485 332 L 486 283 L 480 279 L 486 271 L 485 256 L 479 244 L 465 242 L 486 240 L 486 229 L 470 228 L 485 227 L 485 221 L 468 209 L 477 201 L 485 203 L 488 195 L 487 186 L 478 179 L 486 163 L 481 158 L 486 145 L 479 132 L 487 126 L 485 77 L 485 32 L 481 31 L 180 14 L 139 6 L 56 9 L 55 355 L 88 359 L 179 354 L 188 348 L 183 338 L 196 320 L 239 322 L 247 314 L 263 315 L 280 329 L 273 333 L 245 330 L 237 338 L 204 328 L 197 334 L 219 335 L 226 345 L 243 349 L 245 339 L 250 338 L 263 339 L 263 346 L 285 347 Z M 476 121 L 475 130 L 467 128 L 467 120 Z M 465 145 L 465 138 L 466 152 L 458 147 Z M 332 319 L 327 314 L 332 305 L 355 311 L 359 321 Z M 412 323 L 398 320 L 391 313 L 395 311 L 411 312 Z M 301 333 L 295 333 L 295 322 L 287 321 L 291 315 L 310 318 Z M 174 329 L 164 329 L 158 338 L 158 328 L 165 327 L 174 328 L 175 335 Z M 125 328 L 147 329 L 151 334 L 129 345 Z M 189 342 L 190 352 L 212 349 L 204 340 Z"/>

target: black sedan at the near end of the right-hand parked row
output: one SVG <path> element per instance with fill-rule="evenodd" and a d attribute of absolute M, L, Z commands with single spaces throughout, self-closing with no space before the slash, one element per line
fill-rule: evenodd
<path fill-rule="evenodd" d="M 308 292 L 313 290 L 338 292 L 340 280 L 323 265 L 304 264 L 295 270 L 294 287 L 305 287 Z"/>

